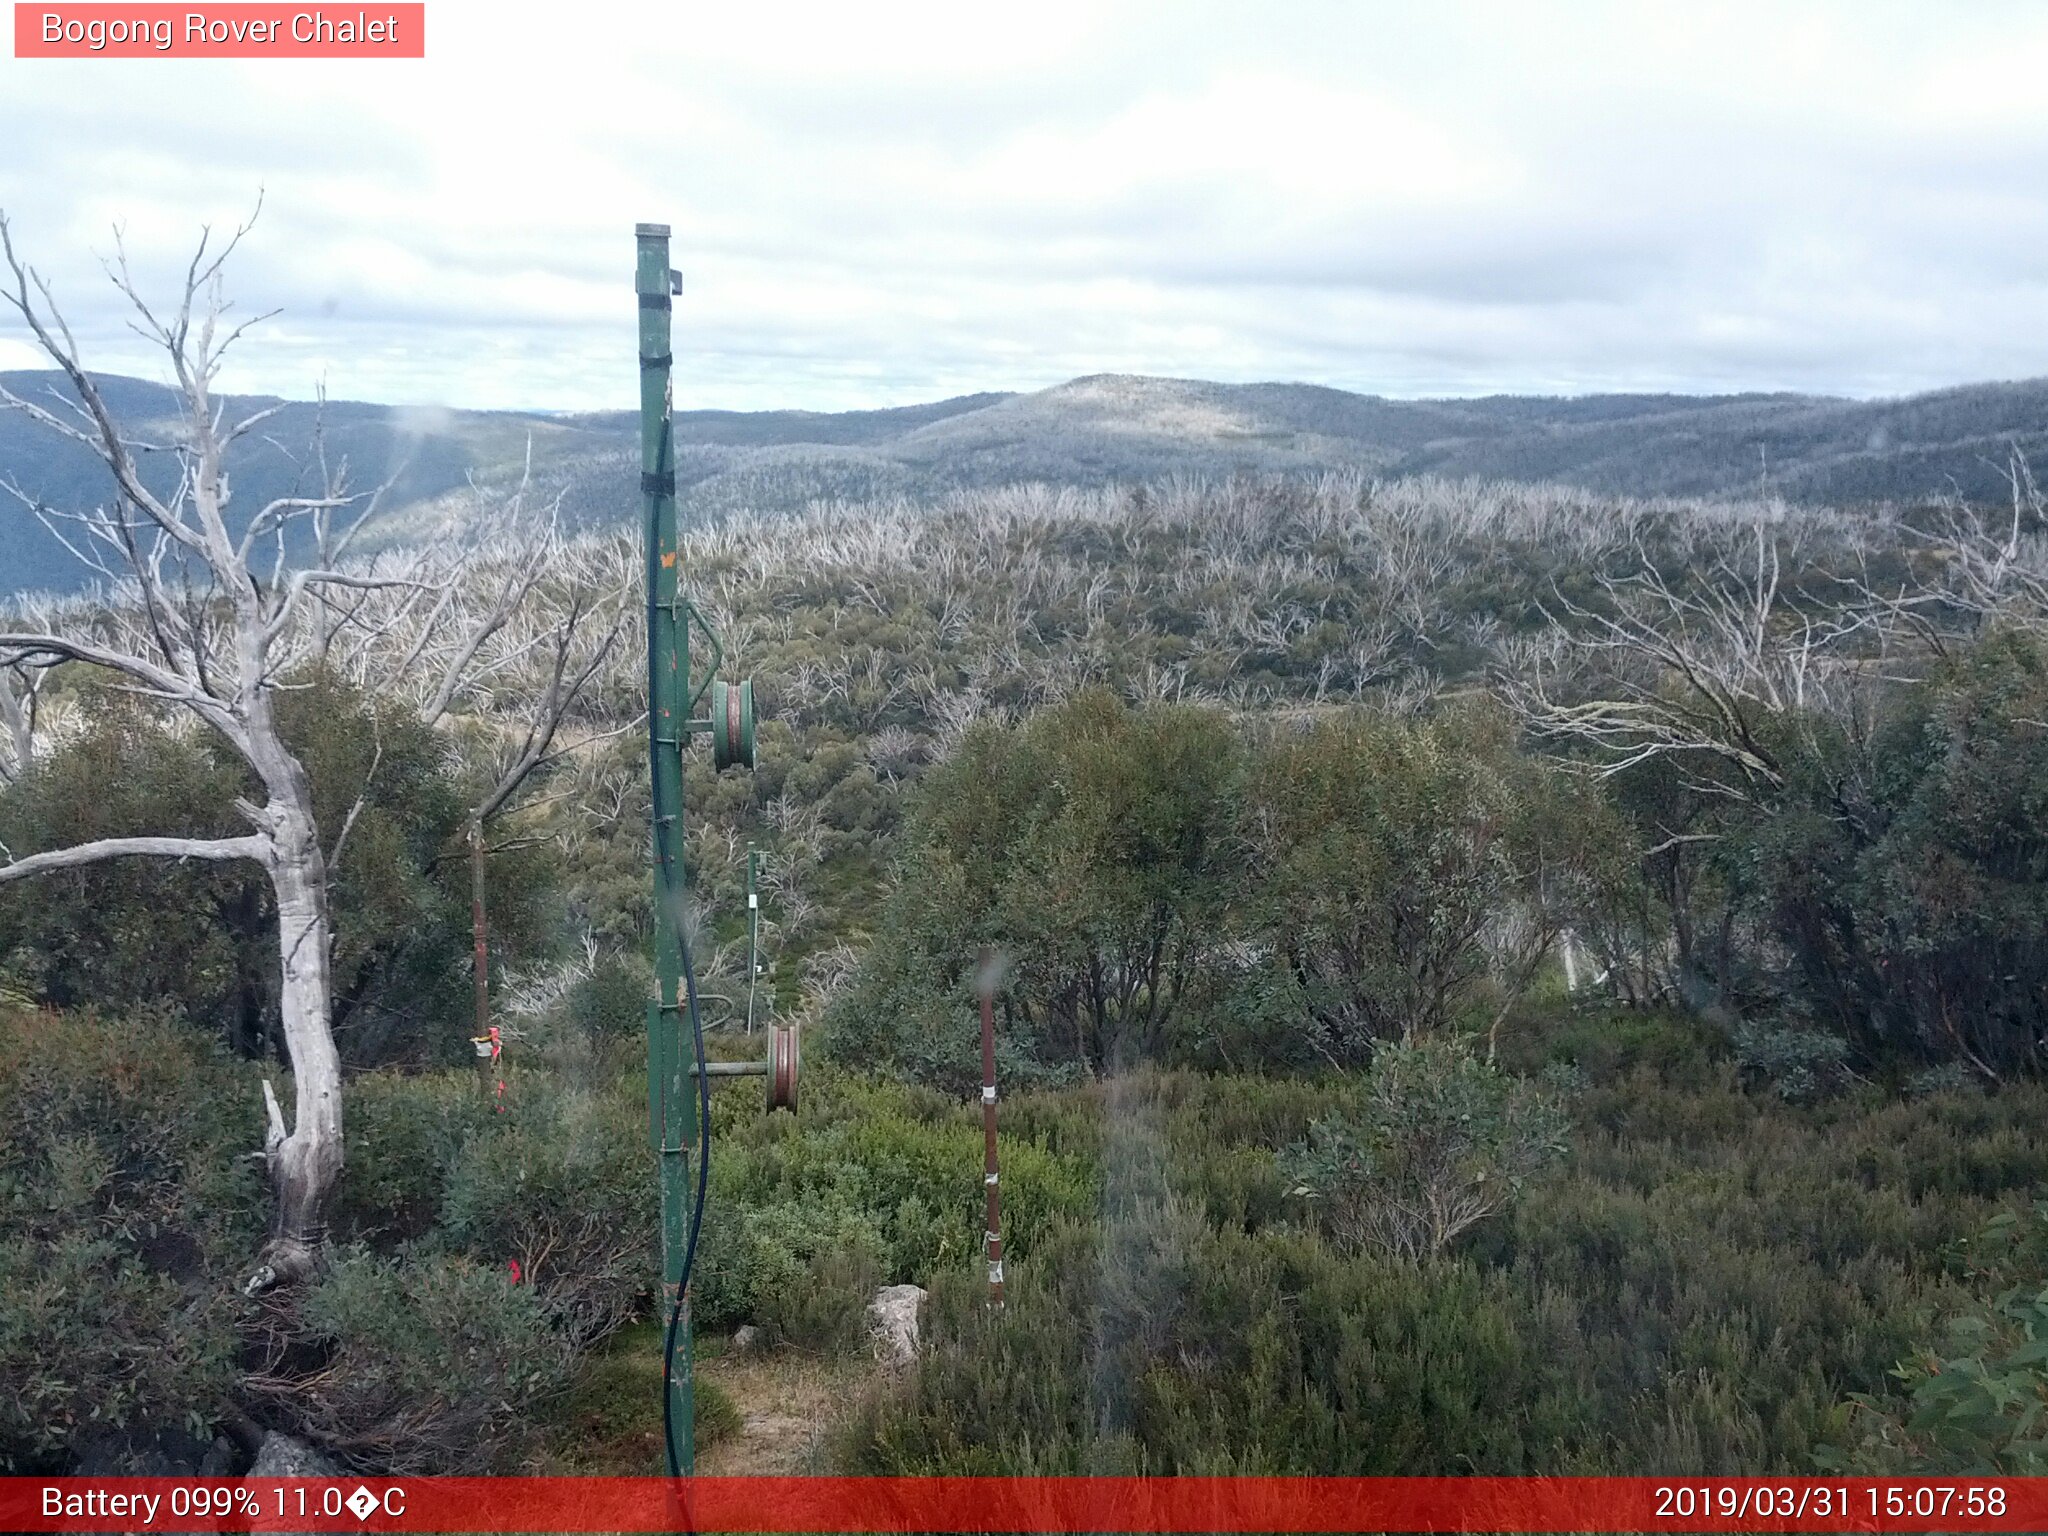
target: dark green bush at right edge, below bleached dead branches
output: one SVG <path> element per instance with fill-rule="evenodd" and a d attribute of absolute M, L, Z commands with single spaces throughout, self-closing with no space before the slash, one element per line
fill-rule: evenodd
<path fill-rule="evenodd" d="M 1788 1004 L 1864 1061 L 2040 1073 L 2048 647 L 1991 631 L 1868 725 L 1776 725 L 1786 784 L 1737 840 Z"/>

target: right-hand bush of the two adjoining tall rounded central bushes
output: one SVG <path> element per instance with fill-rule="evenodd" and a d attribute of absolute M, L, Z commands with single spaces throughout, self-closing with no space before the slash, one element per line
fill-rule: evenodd
<path fill-rule="evenodd" d="M 1430 721 L 1352 711 L 1276 737 L 1255 760 L 1241 838 L 1251 938 L 1270 956 L 1243 1012 L 1266 1020 L 1284 1061 L 1343 1065 L 1450 1028 L 1489 977 L 1495 1010 L 1511 1001 L 1587 870 L 1622 842 L 1595 797 L 1473 709 Z"/>

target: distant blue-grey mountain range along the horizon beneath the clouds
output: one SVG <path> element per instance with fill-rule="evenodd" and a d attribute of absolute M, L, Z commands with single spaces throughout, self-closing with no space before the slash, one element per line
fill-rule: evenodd
<path fill-rule="evenodd" d="M 37 397 L 55 373 L 0 373 Z M 137 436 L 168 436 L 174 399 L 106 377 L 109 406 Z M 264 399 L 229 399 L 254 410 Z M 244 514 L 301 473 L 315 424 L 291 403 L 231 461 Z M 471 516 L 465 487 L 518 477 L 532 444 L 535 481 L 561 492 L 588 526 L 637 514 L 639 424 L 631 412 L 586 416 L 326 408 L 330 463 L 356 487 L 401 475 L 381 537 Z M 1102 485 L 1171 473 L 1229 475 L 1362 467 L 1378 475 L 1479 475 L 1563 481 L 1630 496 L 1747 496 L 1796 502 L 1911 502 L 2005 494 L 1999 471 L 2017 444 L 2048 467 L 2048 379 L 1942 389 L 1905 399 L 1825 395 L 1489 395 L 1380 399 L 1319 385 L 1219 385 L 1094 375 L 1036 393 L 961 395 L 872 412 L 684 412 L 676 481 L 686 516 L 739 508 L 795 512 L 817 500 L 924 498 L 1010 481 Z M 152 473 L 170 473 L 156 461 Z M 78 444 L 0 412 L 0 483 L 55 508 L 104 498 L 104 473 Z M 0 494 L 0 590 L 76 588 L 78 563 L 12 496 Z"/>

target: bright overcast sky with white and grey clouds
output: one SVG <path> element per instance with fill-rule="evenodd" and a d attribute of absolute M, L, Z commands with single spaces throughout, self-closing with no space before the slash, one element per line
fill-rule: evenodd
<path fill-rule="evenodd" d="M 4 57 L 0 207 L 158 377 L 111 227 L 168 279 L 262 188 L 227 383 L 285 395 L 631 406 L 641 219 L 686 406 L 1890 395 L 2048 373 L 2042 80 L 2034 2 L 428 0 L 424 61 Z"/>

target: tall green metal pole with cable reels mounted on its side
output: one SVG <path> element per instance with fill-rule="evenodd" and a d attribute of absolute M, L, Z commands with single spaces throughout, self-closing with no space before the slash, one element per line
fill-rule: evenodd
<path fill-rule="evenodd" d="M 682 1284 L 688 1237 L 690 1157 L 696 1151 L 696 1098 L 690 1085 L 688 1020 L 682 997 L 682 743 L 688 739 L 690 627 L 682 604 L 682 549 L 676 539 L 676 444 L 670 430 L 670 301 L 678 287 L 668 266 L 668 225 L 641 223 L 639 369 L 641 369 L 641 528 L 647 551 L 647 758 L 653 778 L 653 977 L 647 1008 L 647 1118 L 662 1161 L 664 1315 Z M 670 1380 L 676 1460 L 696 1470 L 690 1395 L 690 1298 L 676 1325 Z"/>

